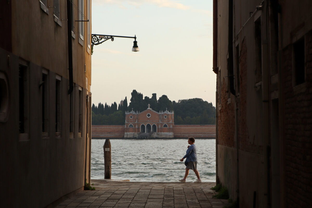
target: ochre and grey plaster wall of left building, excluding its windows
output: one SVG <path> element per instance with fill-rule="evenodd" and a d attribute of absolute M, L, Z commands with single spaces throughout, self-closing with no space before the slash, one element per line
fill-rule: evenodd
<path fill-rule="evenodd" d="M 77 0 L 73 1 L 77 5 Z M 85 1 L 86 2 L 86 1 Z M 7 2 L 6 2 L 7 4 Z M 47 5 L 53 5 L 47 0 Z M 91 56 L 84 44 L 73 44 L 74 132 L 70 133 L 68 94 L 67 22 L 56 22 L 39 1 L 8 1 L 12 9 L 12 51 L 0 45 L 0 73 L 7 80 L 8 107 L 0 121 L 3 178 L 11 186 L 2 194 L 4 207 L 45 207 L 61 197 L 81 191 L 90 182 L 90 84 Z M 67 19 L 66 1 L 60 1 L 60 18 Z M 76 7 L 75 7 L 76 8 Z M 86 8 L 86 5 L 85 5 Z M 2 11 L 3 8 L 0 8 Z M 77 17 L 77 9 L 74 18 Z M 90 20 L 91 21 L 91 20 Z M 61 25 L 60 25 L 61 24 Z M 75 22 L 77 24 L 77 22 Z M 75 25 L 78 28 L 78 25 Z M 85 24 L 86 28 L 86 24 Z M 10 33 L 11 34 L 11 33 Z M 87 37 L 85 29 L 84 37 Z M 7 40 L 9 41 L 9 39 Z M 85 39 L 86 41 L 86 39 Z M 8 45 L 10 45 L 8 44 Z M 85 67 L 86 63 L 86 67 Z M 19 133 L 19 65 L 27 68 L 25 93 L 25 133 Z M 48 80 L 42 84 L 42 73 Z M 88 85 L 86 85 L 86 77 Z M 2 77 L 1 77 L 2 78 Z M 56 79 L 60 79 L 60 131 L 56 132 Z M 42 86 L 48 88 L 47 132 L 42 132 Z M 81 113 L 78 111 L 81 87 Z M 0 94 L 2 96 L 2 94 Z M 88 100 L 86 96 L 89 95 Z M 1 97 L 2 101 L 2 97 Z M 2 102 L 0 109 L 2 110 Z M 81 133 L 78 115 L 81 114 Z"/>

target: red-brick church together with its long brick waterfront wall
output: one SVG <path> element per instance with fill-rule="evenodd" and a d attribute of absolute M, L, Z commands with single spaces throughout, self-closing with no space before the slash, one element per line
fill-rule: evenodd
<path fill-rule="evenodd" d="M 216 125 L 174 125 L 174 112 L 125 112 L 124 125 L 92 125 L 92 138 L 216 138 Z"/>

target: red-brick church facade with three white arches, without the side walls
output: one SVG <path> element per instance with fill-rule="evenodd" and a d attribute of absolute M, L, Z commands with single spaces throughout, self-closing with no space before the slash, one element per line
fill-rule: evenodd
<path fill-rule="evenodd" d="M 148 108 L 142 112 L 126 112 L 124 138 L 173 138 L 173 111 L 156 112 Z"/>

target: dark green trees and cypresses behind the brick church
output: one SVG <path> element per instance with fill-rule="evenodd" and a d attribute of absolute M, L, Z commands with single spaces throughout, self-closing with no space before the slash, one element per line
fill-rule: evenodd
<path fill-rule="evenodd" d="M 123 100 L 123 105 L 114 102 L 111 105 L 99 103 L 98 106 L 92 104 L 92 125 L 124 125 L 125 112 L 132 109 L 142 112 L 147 109 L 148 104 L 154 111 L 174 111 L 174 124 L 216 124 L 216 108 L 212 103 L 208 103 L 201 98 L 182 99 L 171 101 L 167 95 L 162 95 L 157 99 L 156 93 L 149 98 L 137 92 L 135 89 L 131 93 L 128 105 L 127 97 Z"/>

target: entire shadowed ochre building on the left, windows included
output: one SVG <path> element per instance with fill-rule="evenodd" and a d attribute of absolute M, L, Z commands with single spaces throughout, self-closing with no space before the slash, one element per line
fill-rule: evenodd
<path fill-rule="evenodd" d="M 90 182 L 91 1 L 0 1 L 2 207 Z"/>

